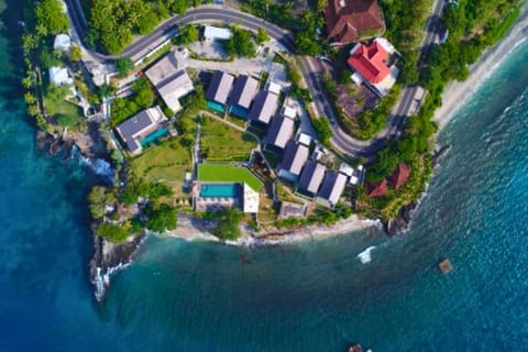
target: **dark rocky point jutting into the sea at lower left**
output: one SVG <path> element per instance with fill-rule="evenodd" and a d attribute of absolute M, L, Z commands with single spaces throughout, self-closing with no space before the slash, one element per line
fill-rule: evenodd
<path fill-rule="evenodd" d="M 110 275 L 125 267 L 132 261 L 146 233 L 138 234 L 127 242 L 113 244 L 94 233 L 94 256 L 89 263 L 90 282 L 94 284 L 96 299 L 102 301 L 110 286 Z"/>

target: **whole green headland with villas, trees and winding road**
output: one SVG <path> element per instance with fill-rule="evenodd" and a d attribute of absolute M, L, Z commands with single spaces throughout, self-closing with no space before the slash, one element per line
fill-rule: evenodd
<path fill-rule="evenodd" d="M 35 4 L 22 84 L 38 144 L 75 145 L 101 176 L 99 254 L 147 233 L 402 233 L 442 154 L 443 87 L 521 4 L 469 20 L 453 0 L 88 2 Z M 96 257 L 92 276 L 120 263 Z"/>

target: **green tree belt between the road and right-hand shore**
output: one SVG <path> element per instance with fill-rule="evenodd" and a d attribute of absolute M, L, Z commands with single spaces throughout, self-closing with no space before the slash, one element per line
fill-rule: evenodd
<path fill-rule="evenodd" d="M 432 48 L 425 61 L 425 68 L 419 72 L 420 84 L 428 90 L 426 102 L 416 117 L 407 119 L 403 136 L 378 152 L 377 161 L 367 172 L 369 180 L 380 180 L 404 162 L 411 168 L 410 178 L 397 191 L 389 189 L 386 197 L 370 199 L 362 189 L 358 204 L 369 216 L 391 219 L 400 206 L 416 200 L 425 189 L 431 175 L 431 136 L 437 131 L 431 120 L 435 110 L 441 106 L 446 84 L 452 79 L 465 79 L 469 76 L 468 66 L 479 58 L 484 48 L 504 36 L 518 14 L 519 9 L 512 7 L 507 0 L 461 0 L 458 7 L 446 7 L 443 24 L 449 29 L 449 38 Z M 418 73 L 416 67 L 414 70 Z"/>

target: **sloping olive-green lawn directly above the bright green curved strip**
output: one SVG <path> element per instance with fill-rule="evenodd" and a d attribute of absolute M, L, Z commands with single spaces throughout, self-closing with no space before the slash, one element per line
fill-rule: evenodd
<path fill-rule="evenodd" d="M 243 162 L 250 158 L 256 141 L 211 118 L 204 117 L 200 148 L 209 162 Z"/>

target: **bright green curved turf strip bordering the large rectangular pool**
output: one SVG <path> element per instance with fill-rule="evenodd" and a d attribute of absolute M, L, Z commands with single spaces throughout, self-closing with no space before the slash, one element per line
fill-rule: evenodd
<path fill-rule="evenodd" d="M 245 183 L 256 191 L 263 186 L 262 182 L 248 168 L 230 164 L 198 165 L 198 180 Z"/>

